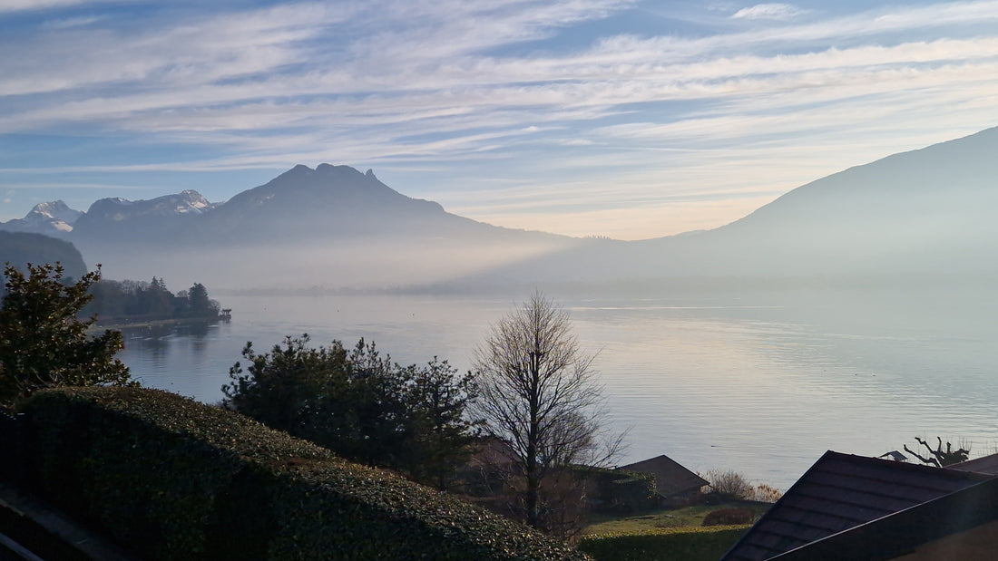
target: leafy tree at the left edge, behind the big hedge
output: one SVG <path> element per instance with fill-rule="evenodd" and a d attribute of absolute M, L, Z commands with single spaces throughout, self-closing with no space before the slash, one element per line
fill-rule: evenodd
<path fill-rule="evenodd" d="M 128 384 L 127 366 L 115 358 L 121 332 L 91 337 L 95 317 L 80 319 L 92 298 L 98 270 L 63 284 L 62 265 L 27 266 L 27 275 L 7 265 L 0 306 L 0 405 L 13 405 L 40 388 Z"/>

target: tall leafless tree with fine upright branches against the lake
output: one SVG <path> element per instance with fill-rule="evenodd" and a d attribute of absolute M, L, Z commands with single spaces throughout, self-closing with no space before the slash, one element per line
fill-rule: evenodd
<path fill-rule="evenodd" d="M 545 529 L 549 499 L 573 466 L 606 465 L 623 434 L 608 429 L 595 354 L 579 348 L 568 313 L 535 292 L 494 324 L 475 351 L 485 430 L 509 446 L 522 516 Z"/>

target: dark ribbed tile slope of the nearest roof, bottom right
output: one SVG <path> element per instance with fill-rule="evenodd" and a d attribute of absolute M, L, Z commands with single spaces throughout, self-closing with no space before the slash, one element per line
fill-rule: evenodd
<path fill-rule="evenodd" d="M 827 451 L 723 561 L 761 561 L 910 509 L 990 475 Z"/>

